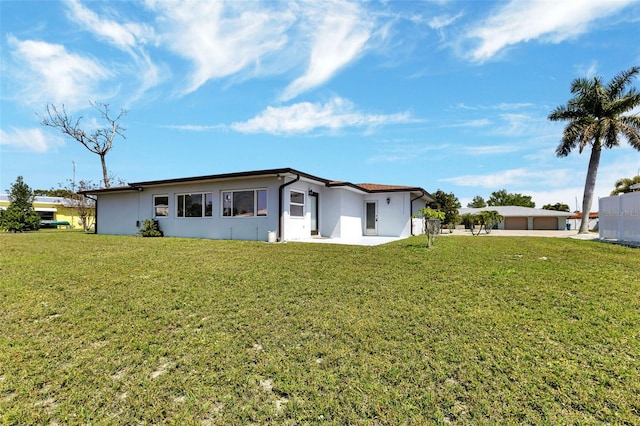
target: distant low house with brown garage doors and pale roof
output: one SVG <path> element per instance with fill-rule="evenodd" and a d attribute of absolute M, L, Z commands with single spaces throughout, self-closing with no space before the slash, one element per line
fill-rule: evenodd
<path fill-rule="evenodd" d="M 504 217 L 498 229 L 505 230 L 565 230 L 567 218 L 573 213 L 557 210 L 534 209 L 520 206 L 487 206 L 482 208 L 461 208 L 460 215 L 476 214 L 484 210 L 495 210 Z"/>

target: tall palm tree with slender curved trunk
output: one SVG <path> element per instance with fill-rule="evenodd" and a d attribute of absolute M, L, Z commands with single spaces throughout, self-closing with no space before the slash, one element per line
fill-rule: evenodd
<path fill-rule="evenodd" d="M 569 99 L 567 105 L 561 105 L 549 114 L 551 121 L 569 122 L 556 148 L 558 157 L 568 156 L 576 147 L 582 153 L 587 145 L 591 146 L 582 198 L 581 234 L 589 232 L 589 211 L 602 148 L 618 146 L 618 135 L 622 134 L 633 148 L 640 151 L 640 117 L 635 114 L 623 115 L 640 105 L 638 90 L 635 87 L 627 90 L 639 72 L 640 67 L 632 67 L 615 76 L 607 85 L 603 84 L 600 77 L 575 79 L 571 84 L 574 97 Z"/>

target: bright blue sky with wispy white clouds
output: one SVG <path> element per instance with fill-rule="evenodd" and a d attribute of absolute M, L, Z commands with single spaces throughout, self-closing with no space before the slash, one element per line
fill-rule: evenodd
<path fill-rule="evenodd" d="M 1 190 L 18 175 L 56 188 L 74 164 L 99 182 L 98 157 L 36 116 L 64 104 L 91 129 L 98 101 L 128 110 L 107 155 L 127 182 L 292 167 L 574 209 L 588 153 L 557 158 L 564 125 L 546 117 L 574 78 L 640 64 L 626 0 L 0 0 L 0 14 Z M 639 169 L 626 142 L 603 152 L 596 195 Z"/>

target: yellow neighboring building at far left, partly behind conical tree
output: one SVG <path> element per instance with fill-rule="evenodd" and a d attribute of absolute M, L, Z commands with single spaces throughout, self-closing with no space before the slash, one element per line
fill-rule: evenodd
<path fill-rule="evenodd" d="M 0 194 L 0 210 L 5 210 L 11 202 L 9 194 Z M 63 225 L 71 228 L 82 227 L 82 221 L 77 208 L 78 203 L 75 200 L 62 197 L 34 197 L 33 209 L 40 215 L 42 226 L 47 227 Z M 93 205 L 85 207 L 93 217 Z"/>

